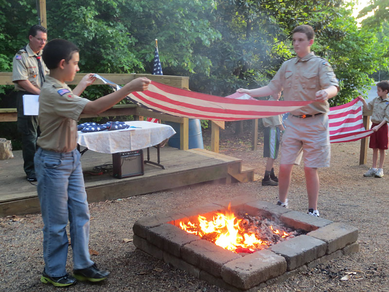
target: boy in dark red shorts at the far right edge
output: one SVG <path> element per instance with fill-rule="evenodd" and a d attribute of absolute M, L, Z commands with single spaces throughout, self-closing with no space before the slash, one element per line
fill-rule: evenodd
<path fill-rule="evenodd" d="M 371 168 L 363 174 L 365 177 L 374 176 L 382 178 L 384 176 L 385 150 L 388 149 L 388 122 L 389 122 L 389 82 L 381 81 L 377 83 L 378 97 L 368 104 L 362 96 L 358 99 L 362 101 L 366 110 L 373 110 L 371 115 L 371 129 L 374 133 L 370 136 L 369 148 L 373 149 L 373 161 Z M 378 150 L 380 152 L 380 164 L 377 168 Z"/>

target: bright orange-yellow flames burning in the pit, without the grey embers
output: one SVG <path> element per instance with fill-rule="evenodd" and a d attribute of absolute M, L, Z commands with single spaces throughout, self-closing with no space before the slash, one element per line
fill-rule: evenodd
<path fill-rule="evenodd" d="M 268 242 L 257 238 L 255 234 L 248 234 L 246 230 L 240 226 L 243 219 L 238 219 L 232 212 L 216 213 L 212 220 L 208 221 L 204 216 L 198 215 L 198 223 L 179 222 L 181 229 L 188 233 L 195 234 L 204 239 L 208 239 L 214 244 L 235 252 L 237 248 L 245 248 L 251 252 L 254 249 L 263 249 L 267 247 Z M 288 234 L 278 229 L 273 230 L 273 226 L 269 227 L 273 233 L 282 237 L 287 237 Z"/>

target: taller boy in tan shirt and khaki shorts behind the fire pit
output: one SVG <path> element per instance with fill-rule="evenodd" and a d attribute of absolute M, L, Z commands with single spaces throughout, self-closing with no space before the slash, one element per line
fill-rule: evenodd
<path fill-rule="evenodd" d="M 293 164 L 300 164 L 304 154 L 308 214 L 318 217 L 318 167 L 330 166 L 327 100 L 337 94 L 339 85 L 327 60 L 311 53 L 314 37 L 315 32 L 311 26 L 297 26 L 293 30 L 293 48 L 297 56 L 283 62 L 268 85 L 252 90 L 238 89 L 238 92 L 266 96 L 283 91 L 284 100 L 313 101 L 290 112 L 285 122 L 277 204 L 288 206 L 287 195 Z"/>

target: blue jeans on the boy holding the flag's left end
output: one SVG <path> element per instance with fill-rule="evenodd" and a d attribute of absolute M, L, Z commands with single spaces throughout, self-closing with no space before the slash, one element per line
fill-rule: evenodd
<path fill-rule="evenodd" d="M 93 265 L 88 249 L 89 210 L 80 157 L 77 149 L 65 153 L 39 148 L 35 153 L 37 191 L 44 223 L 45 272 L 52 277 L 66 274 L 68 219 L 74 269 Z"/>

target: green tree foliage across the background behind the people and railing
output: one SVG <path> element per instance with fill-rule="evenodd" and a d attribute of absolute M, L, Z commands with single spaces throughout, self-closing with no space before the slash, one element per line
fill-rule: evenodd
<path fill-rule="evenodd" d="M 27 31 L 37 22 L 35 3 L 0 0 L 0 71 L 12 70 L 13 56 L 27 42 Z M 81 72 L 150 73 L 158 38 L 164 74 L 190 76 L 191 90 L 227 95 L 267 84 L 294 55 L 291 32 L 305 23 L 317 32 L 313 51 L 333 64 L 340 79 L 334 104 L 354 98 L 371 84 L 369 74 L 388 67 L 387 34 L 359 28 L 343 0 L 46 3 L 49 39 L 66 38 L 79 46 Z M 93 87 L 88 95 L 105 91 Z"/>

